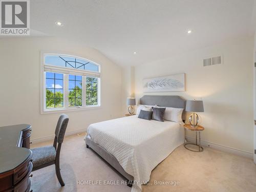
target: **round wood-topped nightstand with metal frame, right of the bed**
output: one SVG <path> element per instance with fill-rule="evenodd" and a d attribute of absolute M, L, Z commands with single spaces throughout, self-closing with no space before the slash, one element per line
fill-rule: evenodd
<path fill-rule="evenodd" d="M 201 133 L 201 131 L 204 131 L 204 127 L 200 126 L 200 125 L 198 125 L 197 127 L 193 127 L 190 124 L 184 124 L 183 127 L 184 127 L 184 140 L 185 140 L 185 129 L 196 132 L 196 144 L 195 143 L 188 143 L 188 142 L 185 143 L 184 142 L 184 147 L 187 150 L 192 151 L 192 152 L 203 152 L 204 148 L 201 147 L 201 134 L 200 133 Z M 197 142 L 197 135 L 198 134 L 199 134 L 199 139 L 198 139 L 198 142 Z M 196 145 L 196 146 L 198 146 L 198 150 L 193 150 L 191 148 L 188 148 L 186 145 Z"/>

